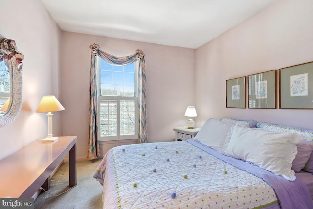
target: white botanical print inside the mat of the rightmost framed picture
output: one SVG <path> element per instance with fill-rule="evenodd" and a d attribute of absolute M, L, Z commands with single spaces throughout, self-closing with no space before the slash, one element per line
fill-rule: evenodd
<path fill-rule="evenodd" d="M 290 76 L 290 96 L 308 95 L 308 73 Z"/>

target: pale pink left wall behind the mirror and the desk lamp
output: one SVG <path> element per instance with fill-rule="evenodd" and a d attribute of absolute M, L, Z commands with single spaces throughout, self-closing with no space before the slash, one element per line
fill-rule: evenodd
<path fill-rule="evenodd" d="M 61 100 L 61 30 L 40 0 L 2 0 L 0 33 L 16 41 L 25 55 L 23 105 L 16 120 L 0 128 L 0 159 L 47 135 L 47 116 L 35 113 L 44 95 Z M 61 112 L 53 116 L 53 135 L 61 135 Z"/>

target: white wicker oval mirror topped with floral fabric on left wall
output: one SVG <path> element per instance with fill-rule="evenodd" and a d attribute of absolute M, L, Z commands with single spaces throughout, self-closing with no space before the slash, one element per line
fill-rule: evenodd
<path fill-rule="evenodd" d="M 0 35 L 0 127 L 15 120 L 21 110 L 23 59 L 15 41 Z"/>

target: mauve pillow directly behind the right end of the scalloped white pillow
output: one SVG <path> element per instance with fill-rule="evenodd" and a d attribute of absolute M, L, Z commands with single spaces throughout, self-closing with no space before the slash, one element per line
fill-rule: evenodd
<path fill-rule="evenodd" d="M 296 145 L 298 153 L 296 154 L 295 159 L 292 161 L 291 170 L 294 170 L 294 172 L 299 172 L 301 169 L 310 167 L 311 171 L 307 172 L 313 172 L 313 143 L 309 141 L 302 141 Z M 309 163 L 310 159 L 311 163 Z"/>

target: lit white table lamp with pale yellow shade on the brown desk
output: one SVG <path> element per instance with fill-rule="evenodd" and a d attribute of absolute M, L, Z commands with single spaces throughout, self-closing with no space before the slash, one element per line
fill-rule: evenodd
<path fill-rule="evenodd" d="M 41 99 L 38 108 L 36 110 L 37 113 L 47 113 L 48 116 L 48 136 L 45 139 L 42 139 L 42 142 L 54 142 L 58 140 L 58 137 L 52 136 L 52 116 L 51 112 L 64 110 L 64 107 L 61 103 L 55 98 L 55 96 L 43 96 Z"/>

